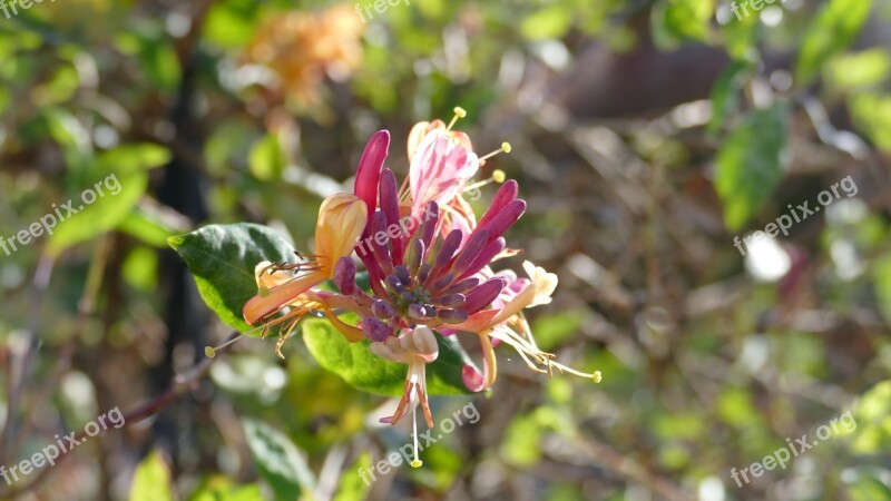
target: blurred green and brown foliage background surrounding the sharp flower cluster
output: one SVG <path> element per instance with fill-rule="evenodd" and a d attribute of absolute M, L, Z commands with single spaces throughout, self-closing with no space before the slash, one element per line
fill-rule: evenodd
<path fill-rule="evenodd" d="M 257 222 L 310 248 L 374 130 L 404 175 L 411 125 L 457 105 L 478 150 L 512 143 L 486 175 L 520 181 L 511 246 L 560 276 L 530 318 L 539 344 L 603 383 L 502 352 L 481 420 L 369 488 L 356 468 L 409 439 L 370 418 L 392 402 L 302 343 L 281 362 L 247 340 L 150 420 L 0 498 L 891 499 L 891 1 L 374 4 L 0 14 L 0 237 L 109 174 L 123 188 L 0 256 L 0 464 L 136 409 L 228 334 L 168 236 Z M 855 195 L 734 247 L 849 175 Z M 731 478 L 846 411 L 853 432 Z"/>

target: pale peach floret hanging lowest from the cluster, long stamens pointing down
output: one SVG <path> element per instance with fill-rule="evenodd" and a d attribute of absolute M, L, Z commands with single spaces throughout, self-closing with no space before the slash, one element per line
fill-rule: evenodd
<path fill-rule="evenodd" d="M 427 364 L 435 361 L 439 356 L 437 338 L 428 326 L 418 325 L 413 328 L 403 328 L 399 337 L 384 336 L 383 340 L 372 343 L 371 351 L 390 362 L 409 364 L 402 399 L 393 415 L 381 419 L 381 422 L 392 424 L 411 413 L 414 430 L 414 460 L 411 465 L 418 468 L 422 463 L 418 452 L 418 413 L 415 411 L 418 406 L 421 406 L 427 426 L 433 428 L 433 415 L 430 413 L 430 405 L 427 401 Z"/>

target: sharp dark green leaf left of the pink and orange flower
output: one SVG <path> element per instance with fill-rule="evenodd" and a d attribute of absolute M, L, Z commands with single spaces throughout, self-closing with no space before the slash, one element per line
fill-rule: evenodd
<path fill-rule="evenodd" d="M 239 332 L 252 330 L 242 308 L 257 293 L 257 263 L 287 262 L 294 248 L 272 228 L 249 223 L 205 226 L 167 242 L 185 259 L 207 306 Z"/>

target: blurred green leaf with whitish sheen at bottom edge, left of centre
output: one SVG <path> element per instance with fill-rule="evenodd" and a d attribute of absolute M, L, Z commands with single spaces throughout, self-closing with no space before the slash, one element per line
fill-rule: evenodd
<path fill-rule="evenodd" d="M 315 489 L 306 460 L 287 435 L 253 419 L 244 419 L 242 424 L 257 473 L 270 484 L 276 501 L 294 501 L 303 489 Z"/>

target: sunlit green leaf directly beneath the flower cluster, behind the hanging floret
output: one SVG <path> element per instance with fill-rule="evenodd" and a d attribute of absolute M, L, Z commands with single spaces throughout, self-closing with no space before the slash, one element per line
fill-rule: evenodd
<path fill-rule="evenodd" d="M 303 340 L 322 367 L 337 374 L 359 390 L 381 395 L 401 395 L 409 366 L 389 362 L 369 348 L 369 341 L 350 343 L 322 318 L 303 322 Z M 431 395 L 470 393 L 461 380 L 464 364 L 472 362 L 454 336 L 437 335 L 439 357 L 427 365 L 427 389 Z"/>

